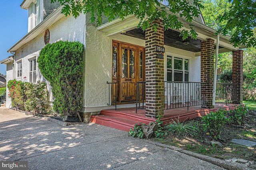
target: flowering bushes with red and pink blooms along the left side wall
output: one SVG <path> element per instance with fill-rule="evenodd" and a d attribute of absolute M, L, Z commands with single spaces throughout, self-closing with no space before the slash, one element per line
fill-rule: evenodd
<path fill-rule="evenodd" d="M 41 114 L 46 113 L 49 92 L 45 82 L 38 81 L 37 84 L 33 84 L 10 80 L 7 87 L 12 107 Z"/>

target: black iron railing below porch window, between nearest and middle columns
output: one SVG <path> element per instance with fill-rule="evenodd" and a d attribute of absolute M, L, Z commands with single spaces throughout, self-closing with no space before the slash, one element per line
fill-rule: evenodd
<path fill-rule="evenodd" d="M 204 86 L 200 82 L 164 82 L 164 109 L 199 106 L 204 102 Z"/>

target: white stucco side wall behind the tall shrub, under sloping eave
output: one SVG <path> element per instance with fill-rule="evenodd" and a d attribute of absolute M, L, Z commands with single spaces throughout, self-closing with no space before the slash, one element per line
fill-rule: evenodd
<path fill-rule="evenodd" d="M 56 41 L 80 41 L 84 43 L 84 27 L 85 27 L 85 15 L 81 14 L 78 18 L 73 18 L 72 16 L 64 17 L 57 21 L 54 25 L 46 28 L 50 31 L 50 43 Z M 23 45 L 20 49 L 16 51 L 14 67 L 15 76 L 10 76 L 13 74 L 14 70 L 7 69 L 6 76 L 8 80 L 16 78 L 16 80 L 22 80 L 29 82 L 29 69 L 30 69 L 30 59 L 38 59 L 40 50 L 45 47 L 44 44 L 44 32 L 37 35 L 35 39 Z M 17 77 L 17 63 L 22 61 L 22 76 Z M 7 64 L 8 65 L 8 64 Z M 24 77 L 26 78 L 24 79 Z M 38 63 L 36 63 L 36 81 L 43 80 L 44 77 L 38 69 Z M 47 82 L 47 81 L 46 81 Z M 51 92 L 51 87 L 48 84 L 48 90 Z M 9 99 L 8 99 L 9 100 Z M 52 94 L 50 93 L 50 101 L 52 102 Z M 6 103 L 7 104 L 7 103 Z M 7 106 L 7 105 L 6 105 Z"/>

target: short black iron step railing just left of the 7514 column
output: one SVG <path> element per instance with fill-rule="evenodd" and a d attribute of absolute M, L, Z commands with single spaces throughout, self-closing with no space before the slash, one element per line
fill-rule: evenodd
<path fill-rule="evenodd" d="M 146 109 L 146 107 L 144 107 L 145 96 L 146 96 L 145 92 L 146 92 L 146 82 L 137 82 L 136 113 L 137 113 L 137 109 Z"/>

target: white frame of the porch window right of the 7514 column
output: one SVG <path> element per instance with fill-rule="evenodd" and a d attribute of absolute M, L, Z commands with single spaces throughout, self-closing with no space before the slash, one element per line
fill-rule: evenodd
<path fill-rule="evenodd" d="M 166 55 L 166 63 L 168 62 L 168 59 L 172 59 L 172 66 L 171 68 L 168 68 L 168 65 L 166 64 L 166 73 L 167 73 L 167 77 L 166 80 L 173 82 L 174 81 L 174 74 L 175 72 L 182 72 L 182 82 L 189 82 L 190 81 L 190 59 L 188 59 L 187 57 L 183 57 L 180 55 L 172 55 L 172 54 L 168 54 Z M 174 69 L 174 59 L 181 59 L 182 60 L 182 70 L 178 70 L 178 69 Z M 185 70 L 185 60 L 188 61 L 188 70 Z M 171 73 L 172 75 L 172 80 L 168 80 L 168 73 Z M 188 80 L 185 81 L 185 73 L 188 74 Z"/>

